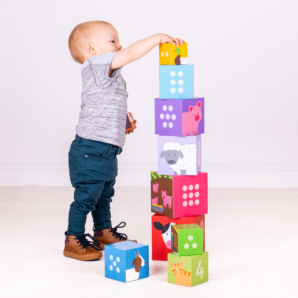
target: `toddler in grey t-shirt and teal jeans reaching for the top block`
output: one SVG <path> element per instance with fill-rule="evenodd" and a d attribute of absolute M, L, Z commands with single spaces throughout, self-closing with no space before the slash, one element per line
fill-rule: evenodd
<path fill-rule="evenodd" d="M 117 155 L 125 142 L 128 93 L 120 71 L 122 66 L 167 42 L 178 46 L 185 41 L 159 33 L 122 49 L 117 30 L 104 21 L 79 24 L 69 36 L 70 53 L 75 61 L 83 64 L 83 87 L 79 124 L 68 155 L 75 191 L 65 232 L 63 254 L 66 257 L 97 260 L 102 257 L 101 250 L 106 244 L 127 240 L 127 235 L 117 232 L 125 223 L 112 228 L 110 212 L 118 171 Z M 85 234 L 90 211 L 93 236 Z"/>

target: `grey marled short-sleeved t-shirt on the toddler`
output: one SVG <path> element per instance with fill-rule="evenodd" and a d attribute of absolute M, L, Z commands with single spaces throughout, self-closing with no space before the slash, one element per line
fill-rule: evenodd
<path fill-rule="evenodd" d="M 81 68 L 82 103 L 77 135 L 119 147 L 124 146 L 127 97 L 125 81 L 120 71 L 108 71 L 117 52 L 89 58 Z"/>

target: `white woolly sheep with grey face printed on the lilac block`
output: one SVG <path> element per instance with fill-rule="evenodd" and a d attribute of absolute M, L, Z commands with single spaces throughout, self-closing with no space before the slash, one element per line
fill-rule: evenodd
<path fill-rule="evenodd" d="M 195 144 L 164 143 L 160 157 L 164 157 L 175 175 L 196 175 L 197 159 L 199 165 L 201 162 L 200 141 L 198 150 Z"/>

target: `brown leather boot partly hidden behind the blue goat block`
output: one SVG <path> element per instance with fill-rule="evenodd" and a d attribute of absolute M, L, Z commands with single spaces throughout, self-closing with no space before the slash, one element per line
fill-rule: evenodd
<path fill-rule="evenodd" d="M 124 224 L 124 225 L 120 226 L 121 224 Z M 93 227 L 93 231 L 94 231 L 93 237 L 95 240 L 97 240 L 100 243 L 100 247 L 104 250 L 105 245 L 107 244 L 129 240 L 127 239 L 127 235 L 117 232 L 117 228 L 123 228 L 125 225 L 126 223 L 122 221 L 118 226 L 115 226 L 114 228 L 110 228 L 110 229 L 96 230 Z M 136 240 L 130 240 L 130 241 L 138 242 Z"/>

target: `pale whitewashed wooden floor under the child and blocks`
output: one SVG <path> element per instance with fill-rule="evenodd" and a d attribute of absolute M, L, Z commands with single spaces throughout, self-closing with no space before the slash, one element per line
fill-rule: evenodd
<path fill-rule="evenodd" d="M 209 281 L 167 283 L 167 262 L 131 283 L 104 277 L 104 257 L 63 256 L 72 187 L 0 187 L 0 297 L 298 297 L 298 189 L 209 189 Z M 150 189 L 116 187 L 113 226 L 149 245 Z M 91 215 L 86 232 L 92 233 Z"/>

